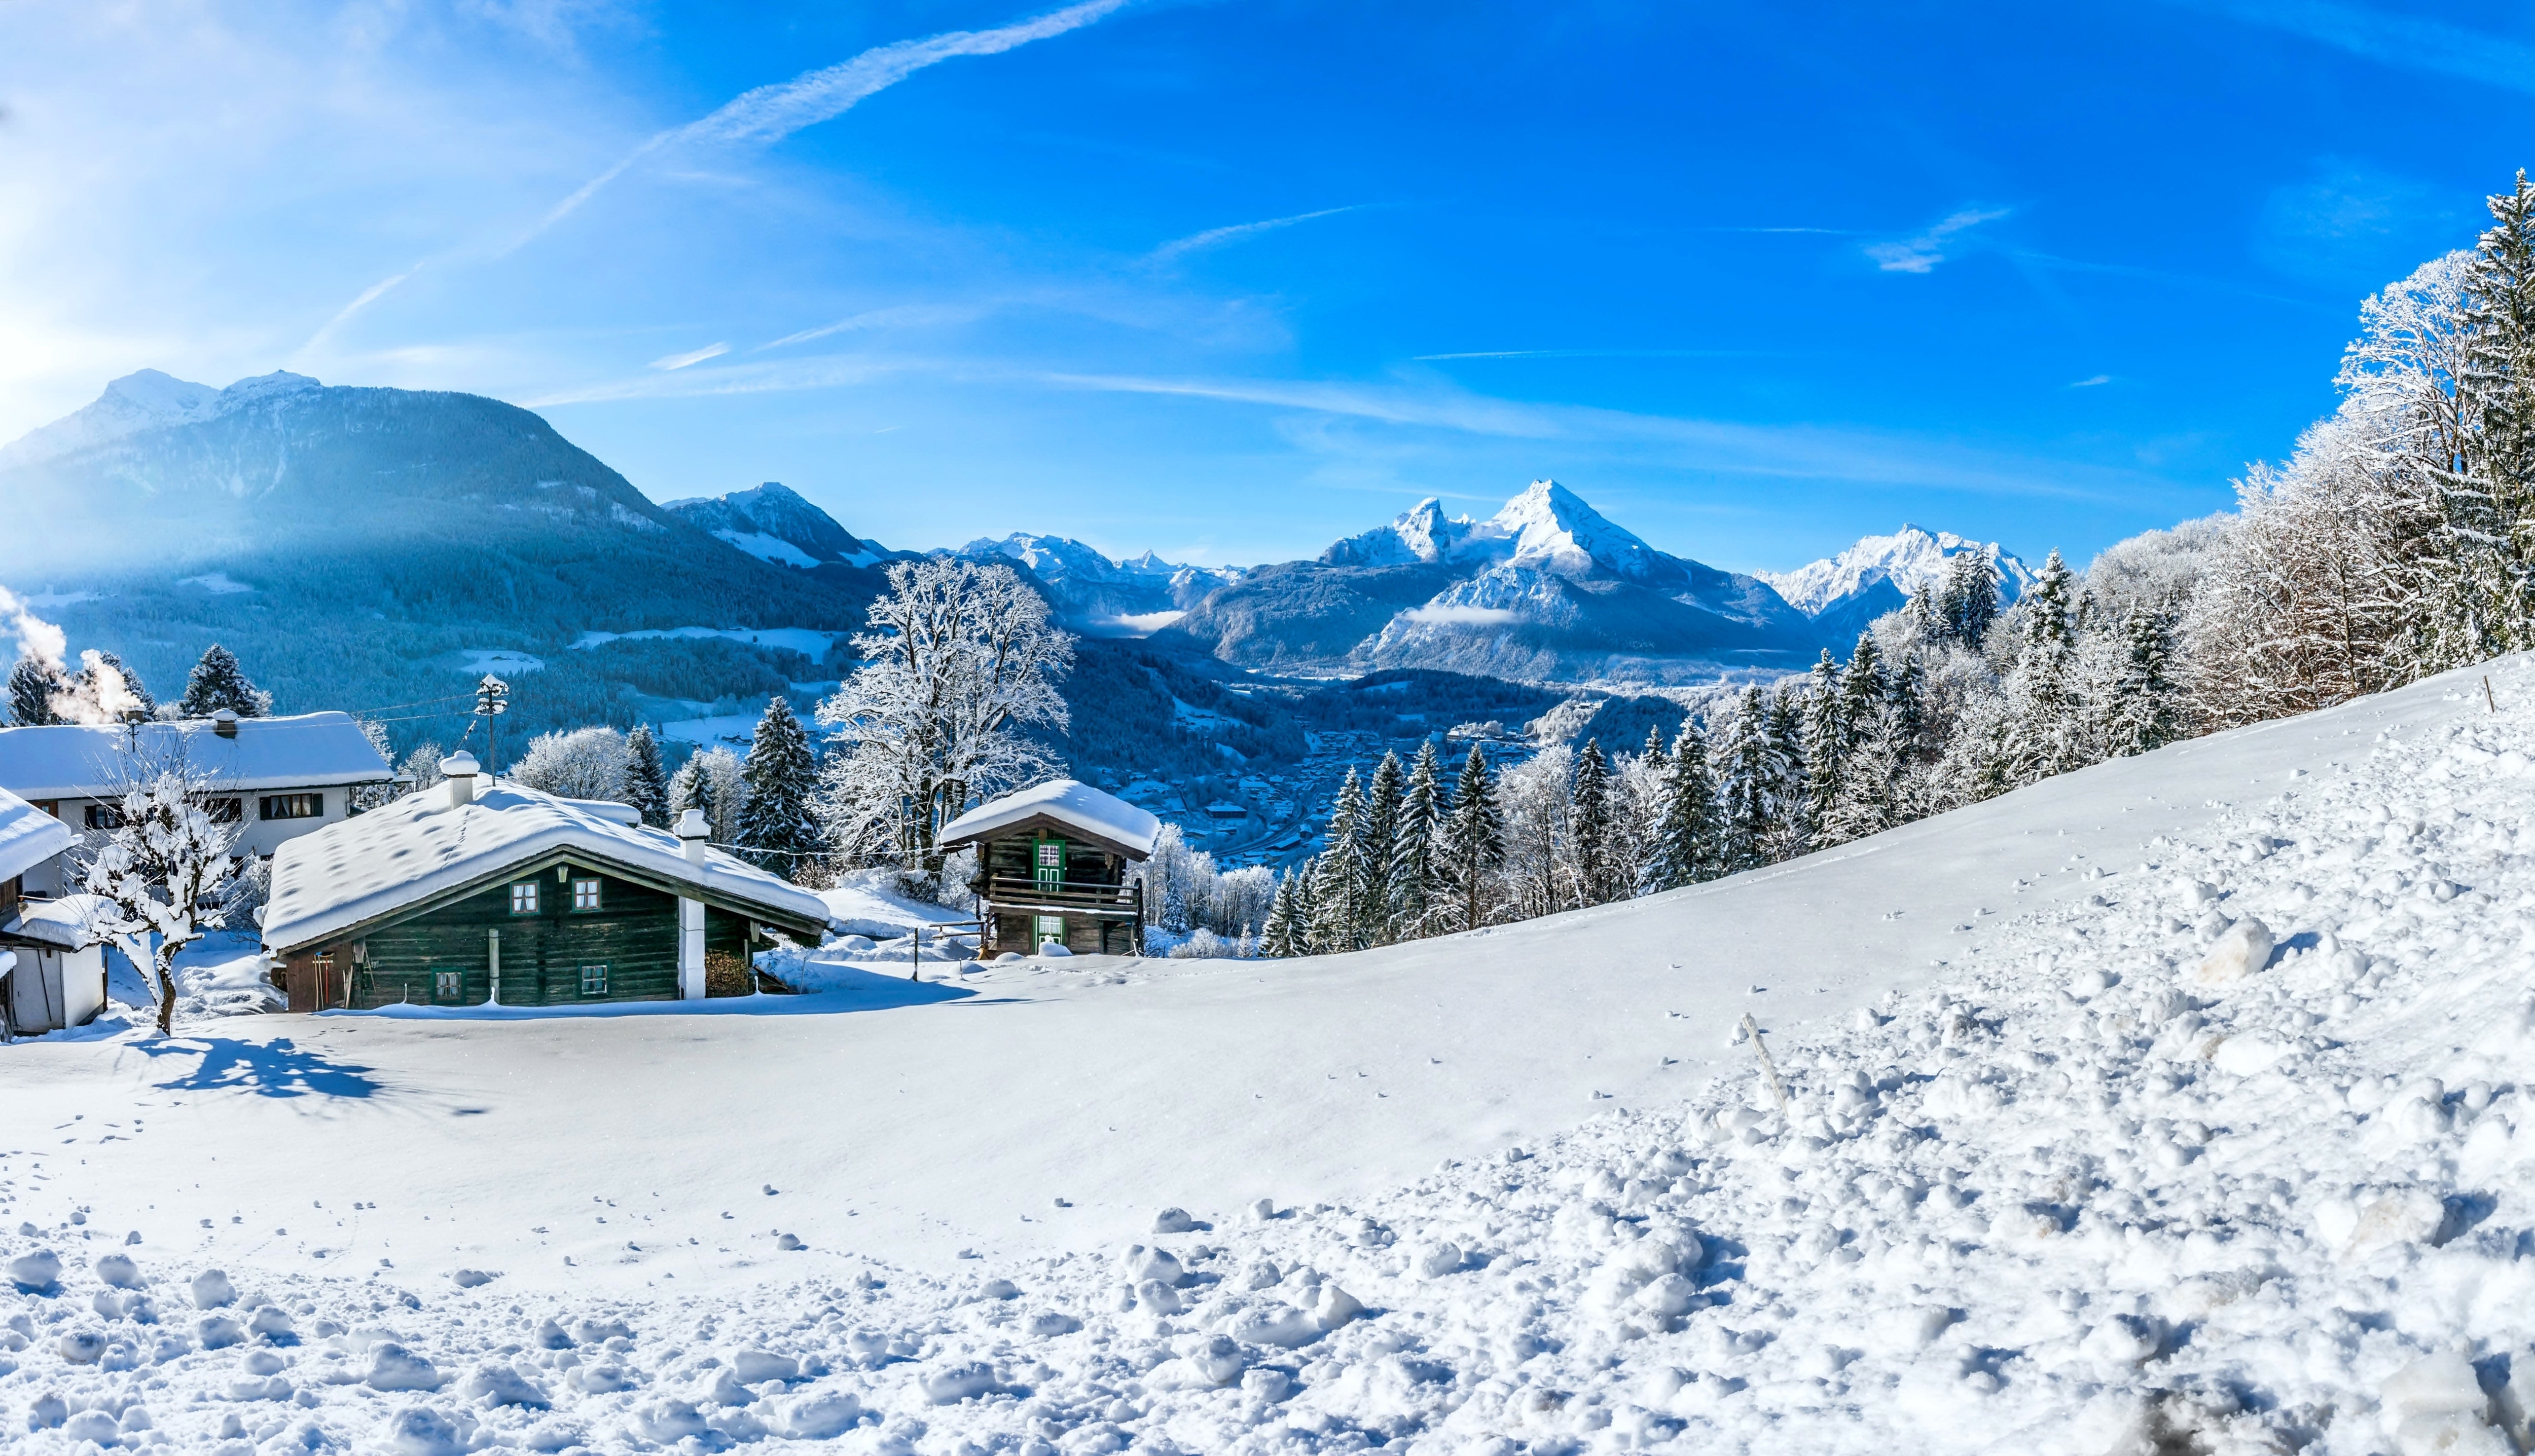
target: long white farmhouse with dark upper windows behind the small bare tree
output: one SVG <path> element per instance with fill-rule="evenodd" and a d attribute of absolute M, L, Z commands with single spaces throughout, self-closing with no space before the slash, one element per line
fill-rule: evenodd
<path fill-rule="evenodd" d="M 271 856 L 284 841 L 350 818 L 352 790 L 395 777 L 352 714 L 241 719 L 221 712 L 185 722 L 0 729 L 0 790 L 53 815 L 71 833 L 109 831 L 127 765 L 175 757 L 213 788 L 215 813 L 241 825 L 236 851 L 256 856 Z M 28 896 L 61 896 L 76 889 L 71 874 L 56 851 L 23 871 L 20 889 Z"/>

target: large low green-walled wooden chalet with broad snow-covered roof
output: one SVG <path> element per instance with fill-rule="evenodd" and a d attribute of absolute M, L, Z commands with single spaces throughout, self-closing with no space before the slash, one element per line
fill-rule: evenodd
<path fill-rule="evenodd" d="M 753 950 L 826 932 L 819 896 L 705 846 L 695 810 L 669 833 L 479 790 L 469 755 L 441 767 L 446 785 L 274 853 L 264 950 L 292 1010 L 700 1000 L 715 962 L 753 990 Z"/>

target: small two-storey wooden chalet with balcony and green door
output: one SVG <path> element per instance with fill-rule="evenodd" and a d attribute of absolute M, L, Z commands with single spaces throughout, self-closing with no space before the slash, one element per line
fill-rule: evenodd
<path fill-rule="evenodd" d="M 986 800 L 943 825 L 946 851 L 976 848 L 981 955 L 1143 952 L 1143 886 L 1126 866 L 1153 856 L 1161 820 L 1070 777 Z"/>

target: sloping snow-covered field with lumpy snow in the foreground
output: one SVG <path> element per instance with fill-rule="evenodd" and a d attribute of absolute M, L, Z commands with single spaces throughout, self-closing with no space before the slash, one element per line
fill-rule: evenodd
<path fill-rule="evenodd" d="M 2492 686 L 1354 957 L 5 1048 L 0 1408 L 25 1451 L 2517 1451 L 2535 663 Z"/>

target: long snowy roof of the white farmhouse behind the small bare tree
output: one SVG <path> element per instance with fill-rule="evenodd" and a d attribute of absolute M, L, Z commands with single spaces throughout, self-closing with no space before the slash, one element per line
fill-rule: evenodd
<path fill-rule="evenodd" d="M 139 734 L 147 762 L 183 747 L 185 765 L 226 790 L 385 782 L 395 775 L 352 714 L 327 712 L 238 719 L 233 737 L 215 732 L 210 719 L 0 729 L 0 788 L 18 798 L 104 798 L 122 770 L 127 732 Z"/>

